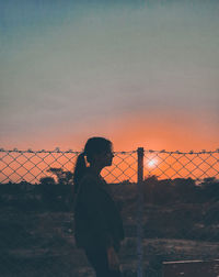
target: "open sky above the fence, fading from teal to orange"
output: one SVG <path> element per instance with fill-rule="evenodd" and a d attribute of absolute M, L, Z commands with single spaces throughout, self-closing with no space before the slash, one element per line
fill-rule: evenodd
<path fill-rule="evenodd" d="M 219 1 L 0 0 L 0 146 L 219 147 Z"/>

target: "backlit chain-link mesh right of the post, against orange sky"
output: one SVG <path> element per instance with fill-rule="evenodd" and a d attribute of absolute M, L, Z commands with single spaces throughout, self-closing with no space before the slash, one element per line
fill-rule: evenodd
<path fill-rule="evenodd" d="M 207 152 L 145 151 L 145 173 L 158 178 L 219 177 L 219 149 Z"/>

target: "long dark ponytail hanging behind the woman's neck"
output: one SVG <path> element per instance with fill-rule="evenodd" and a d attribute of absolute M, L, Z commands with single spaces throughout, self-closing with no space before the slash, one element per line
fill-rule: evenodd
<path fill-rule="evenodd" d="M 77 158 L 74 173 L 73 173 L 74 193 L 78 192 L 79 181 L 83 177 L 85 169 L 87 169 L 87 164 L 85 164 L 85 158 L 84 158 L 84 152 L 82 152 Z"/>

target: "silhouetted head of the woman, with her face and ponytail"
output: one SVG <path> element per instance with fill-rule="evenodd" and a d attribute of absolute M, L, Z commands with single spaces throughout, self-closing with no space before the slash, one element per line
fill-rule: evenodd
<path fill-rule="evenodd" d="M 87 141 L 85 146 L 83 148 L 83 153 L 78 156 L 74 167 L 73 182 L 76 192 L 78 190 L 78 182 L 83 177 L 87 170 L 84 156 L 87 156 L 87 162 L 90 164 L 90 166 L 96 165 L 100 168 L 103 168 L 105 166 L 112 165 L 112 142 L 104 137 L 94 136 L 90 137 Z"/>

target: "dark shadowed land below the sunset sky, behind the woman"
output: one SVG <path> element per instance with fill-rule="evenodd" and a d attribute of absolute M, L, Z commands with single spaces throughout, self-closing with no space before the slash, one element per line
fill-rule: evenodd
<path fill-rule="evenodd" d="M 176 181 L 148 179 L 142 188 L 143 277 L 161 277 L 164 262 L 219 258 L 218 181 L 203 187 Z M 0 188 L 0 277 L 94 277 L 83 251 L 74 244 L 70 187 Z M 120 269 L 124 277 L 134 277 L 138 269 L 137 186 L 112 189 L 126 235 Z"/>

